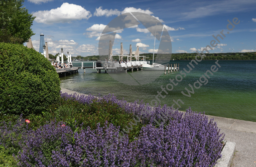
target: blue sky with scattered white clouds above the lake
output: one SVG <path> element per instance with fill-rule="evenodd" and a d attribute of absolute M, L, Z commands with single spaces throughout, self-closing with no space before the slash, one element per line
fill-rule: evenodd
<path fill-rule="evenodd" d="M 49 53 L 72 56 L 98 55 L 98 39 L 105 26 L 118 15 L 143 12 L 158 18 L 172 39 L 172 53 L 192 53 L 210 45 L 212 35 L 223 33 L 226 37 L 210 53 L 255 52 L 256 1 L 65 1 L 26 0 L 24 6 L 37 18 L 32 36 L 34 48 L 39 51 L 40 34 L 45 35 Z M 227 20 L 238 18 L 227 35 Z M 231 28 L 231 27 L 230 27 Z M 140 46 L 140 53 L 153 53 L 154 36 L 143 25 L 117 31 L 113 54 L 119 54 L 120 42 L 124 54 Z M 156 50 L 159 41 L 156 40 Z M 223 50 L 220 50 L 222 48 Z"/>

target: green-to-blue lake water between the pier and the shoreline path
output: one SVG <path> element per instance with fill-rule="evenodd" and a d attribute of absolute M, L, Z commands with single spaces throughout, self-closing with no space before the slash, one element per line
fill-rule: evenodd
<path fill-rule="evenodd" d="M 179 63 L 180 70 L 187 68 L 190 61 L 171 61 Z M 193 70 L 186 75 L 172 91 L 161 100 L 161 105 L 167 104 L 171 106 L 174 100 L 181 99 L 184 104 L 179 110 L 185 111 L 191 107 L 193 111 L 205 112 L 207 115 L 228 117 L 234 119 L 248 120 L 256 122 L 256 61 L 218 61 L 221 66 L 213 75 L 209 74 L 208 83 L 202 85 L 199 89 L 195 89 L 191 97 L 184 96 L 181 91 L 187 94 L 185 87 L 191 88 L 194 82 L 207 71 L 212 65 L 216 65 L 215 61 L 201 61 Z M 183 70 L 184 71 L 184 70 Z M 136 73 L 135 71 L 134 73 Z M 140 72 L 140 71 L 139 71 Z M 118 99 L 132 102 L 137 99 L 150 103 L 156 99 L 157 91 L 161 91 L 161 85 L 166 87 L 170 83 L 169 79 L 175 79 L 180 71 L 167 75 L 161 75 L 154 82 L 145 85 L 131 86 L 115 81 L 107 73 L 98 74 L 96 70 L 86 69 L 79 70 L 77 74 L 61 77 L 61 87 L 92 95 L 106 95 L 113 93 Z M 129 75 L 129 74 L 123 74 Z M 178 78 L 180 79 L 180 78 Z M 177 81 L 175 81 L 176 83 Z M 197 85 L 198 86 L 198 85 Z M 174 105 L 174 107 L 178 107 Z"/>

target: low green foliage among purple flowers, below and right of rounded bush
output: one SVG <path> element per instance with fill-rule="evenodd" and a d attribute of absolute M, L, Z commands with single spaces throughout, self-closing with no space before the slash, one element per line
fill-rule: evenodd
<path fill-rule="evenodd" d="M 5 120 L 6 122 L 16 122 L 18 118 L 17 115 L 0 116 L 0 120 Z M 82 104 L 73 99 L 64 100 L 61 98 L 58 103 L 49 106 L 48 112 L 30 114 L 24 116 L 24 118 L 31 121 L 29 127 L 34 130 L 45 125 L 47 121 L 63 121 L 67 123 L 75 120 L 77 126 L 80 127 L 82 124 L 82 128 L 89 126 L 93 130 L 97 128 L 97 123 L 100 123 L 100 127 L 103 127 L 106 121 L 108 124 L 112 123 L 117 127 L 120 126 L 120 130 L 123 128 L 127 129 L 125 126 L 130 127 L 129 123 L 131 121 L 135 122 L 133 120 L 134 114 L 126 113 L 117 104 L 111 104 L 111 101 L 106 102 L 102 100 L 97 102 L 96 99 L 91 104 Z M 0 126 L 2 126 L 1 123 Z M 131 141 L 139 135 L 142 126 L 141 123 L 133 125 L 133 129 L 129 133 Z"/>

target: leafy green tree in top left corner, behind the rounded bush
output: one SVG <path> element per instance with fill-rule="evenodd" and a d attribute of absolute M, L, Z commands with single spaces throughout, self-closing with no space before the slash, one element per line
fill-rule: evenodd
<path fill-rule="evenodd" d="M 36 17 L 22 8 L 24 0 L 0 1 L 0 42 L 23 44 L 35 35 L 31 29 Z"/>

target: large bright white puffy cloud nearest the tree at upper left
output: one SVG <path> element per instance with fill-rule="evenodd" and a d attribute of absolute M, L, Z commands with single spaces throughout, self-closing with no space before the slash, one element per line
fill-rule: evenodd
<path fill-rule="evenodd" d="M 36 16 L 37 23 L 53 24 L 53 23 L 71 23 L 74 20 L 88 20 L 92 15 L 83 7 L 63 3 L 60 8 L 52 9 L 50 11 L 38 11 L 33 13 Z"/>

